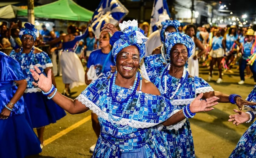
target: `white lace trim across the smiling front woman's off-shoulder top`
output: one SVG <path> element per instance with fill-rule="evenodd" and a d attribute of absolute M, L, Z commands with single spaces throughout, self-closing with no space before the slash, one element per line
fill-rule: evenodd
<path fill-rule="evenodd" d="M 96 104 L 94 104 L 92 101 L 90 101 L 87 97 L 85 97 L 83 94 L 80 94 L 77 98 L 78 101 L 80 101 L 83 105 L 85 105 L 87 108 L 90 108 L 98 117 L 101 117 L 102 119 L 105 119 L 110 122 L 108 119 L 108 114 L 101 110 L 100 107 L 98 107 Z M 119 117 L 114 116 L 114 118 L 118 119 Z M 132 128 L 149 128 L 155 125 L 158 125 L 159 123 L 150 123 L 150 122 L 140 122 L 136 120 L 132 120 L 130 122 L 130 119 L 121 119 L 120 121 L 112 121 L 115 124 L 118 125 L 129 125 Z"/>

